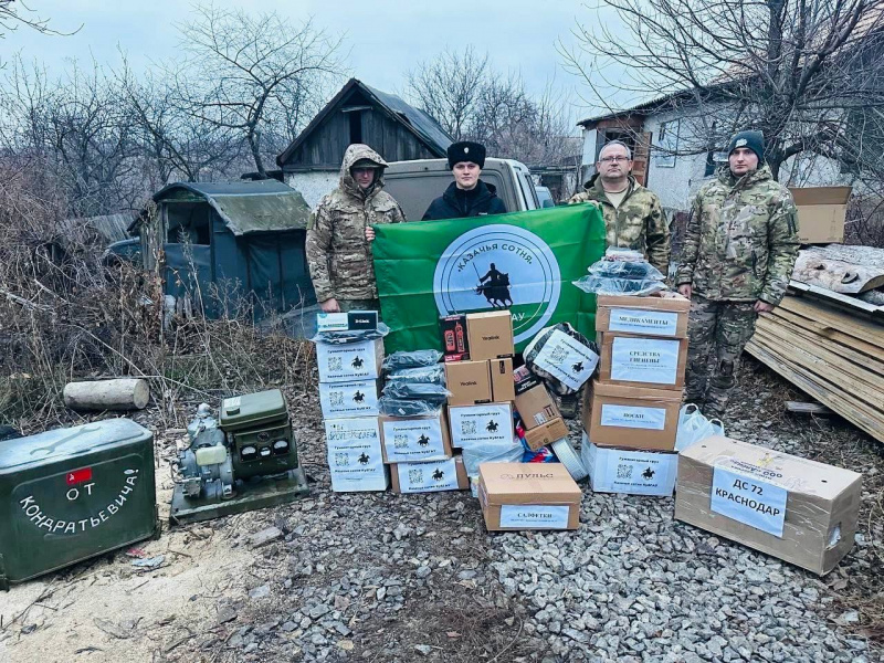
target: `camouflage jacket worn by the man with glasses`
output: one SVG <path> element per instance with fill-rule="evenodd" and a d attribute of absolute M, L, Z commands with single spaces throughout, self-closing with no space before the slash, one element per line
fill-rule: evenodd
<path fill-rule="evenodd" d="M 648 256 L 648 262 L 666 275 L 670 267 L 670 227 L 656 193 L 629 176 L 629 190 L 620 207 L 614 208 L 604 194 L 599 176 L 594 175 L 583 190 L 568 202 L 587 201 L 594 201 L 601 207 L 608 246 L 641 251 Z"/>

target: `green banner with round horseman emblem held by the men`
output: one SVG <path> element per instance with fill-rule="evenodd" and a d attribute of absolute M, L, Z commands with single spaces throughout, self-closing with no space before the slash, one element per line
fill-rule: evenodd
<path fill-rule="evenodd" d="M 387 352 L 442 348 L 439 317 L 508 308 L 516 350 L 544 327 L 596 336 L 596 301 L 571 285 L 604 254 L 591 204 L 376 225 L 375 275 Z"/>

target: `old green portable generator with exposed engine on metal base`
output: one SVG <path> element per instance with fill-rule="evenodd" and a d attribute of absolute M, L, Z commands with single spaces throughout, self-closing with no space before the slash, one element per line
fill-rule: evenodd
<path fill-rule="evenodd" d="M 172 524 L 208 520 L 292 502 L 308 494 L 282 391 L 208 404 L 188 425 L 189 445 L 172 465 Z"/>

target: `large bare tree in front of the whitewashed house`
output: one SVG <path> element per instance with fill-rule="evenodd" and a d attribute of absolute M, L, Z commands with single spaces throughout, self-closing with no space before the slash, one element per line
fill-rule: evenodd
<path fill-rule="evenodd" d="M 602 0 L 609 21 L 579 27 L 566 60 L 610 108 L 610 93 L 661 97 L 683 116 L 680 154 L 765 131 L 775 177 L 790 158 L 871 159 L 855 128 L 884 108 L 880 0 Z M 615 108 L 610 108 L 615 110 Z"/>

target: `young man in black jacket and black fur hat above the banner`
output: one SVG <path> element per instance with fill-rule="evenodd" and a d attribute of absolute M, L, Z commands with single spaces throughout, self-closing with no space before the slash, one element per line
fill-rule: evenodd
<path fill-rule="evenodd" d="M 423 221 L 438 219 L 465 219 L 506 212 L 504 201 L 497 198 L 494 185 L 478 179 L 485 166 L 485 146 L 478 143 L 453 143 L 449 147 L 449 168 L 454 181 L 445 192 L 433 200 Z"/>

